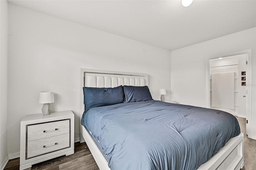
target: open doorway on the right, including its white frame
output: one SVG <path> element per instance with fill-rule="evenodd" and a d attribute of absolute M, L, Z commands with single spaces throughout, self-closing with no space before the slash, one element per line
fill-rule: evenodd
<path fill-rule="evenodd" d="M 251 50 L 208 60 L 209 108 L 246 118 L 246 134 L 250 135 Z"/>

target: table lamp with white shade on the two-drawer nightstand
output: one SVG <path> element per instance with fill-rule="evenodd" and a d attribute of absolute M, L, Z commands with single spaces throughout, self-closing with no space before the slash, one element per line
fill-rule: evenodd
<path fill-rule="evenodd" d="M 51 91 L 42 91 L 39 93 L 39 102 L 44 104 L 42 107 L 43 115 L 50 115 L 50 103 L 54 102 L 54 93 Z"/>

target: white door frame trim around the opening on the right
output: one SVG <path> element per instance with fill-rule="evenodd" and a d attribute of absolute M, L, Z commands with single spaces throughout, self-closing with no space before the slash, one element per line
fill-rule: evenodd
<path fill-rule="evenodd" d="M 246 113 L 246 121 L 248 121 L 248 123 L 246 124 L 246 134 L 248 134 L 249 138 L 253 138 L 254 136 L 251 136 L 250 133 L 250 129 L 251 129 L 251 120 L 252 120 L 252 49 L 248 49 L 245 51 L 238 51 L 235 53 L 230 53 L 227 55 L 220 55 L 217 57 L 212 57 L 212 58 L 208 58 L 207 59 L 207 64 L 206 64 L 206 90 L 208 94 L 208 108 L 210 108 L 210 59 L 216 59 L 216 58 L 220 58 L 220 57 L 230 57 L 233 55 L 241 55 L 241 54 L 246 54 L 246 58 L 248 61 L 248 64 L 246 65 L 246 90 L 248 91 L 248 94 L 246 94 L 246 109 L 247 109 L 247 113 Z"/>

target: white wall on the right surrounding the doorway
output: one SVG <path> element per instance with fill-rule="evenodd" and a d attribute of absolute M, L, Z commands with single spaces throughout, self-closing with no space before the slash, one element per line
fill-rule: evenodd
<path fill-rule="evenodd" d="M 252 135 L 256 135 L 256 28 L 171 51 L 171 97 L 208 107 L 208 59 L 252 49 Z"/>

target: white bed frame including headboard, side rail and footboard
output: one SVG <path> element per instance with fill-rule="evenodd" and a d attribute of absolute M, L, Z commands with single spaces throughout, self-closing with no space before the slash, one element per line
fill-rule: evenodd
<path fill-rule="evenodd" d="M 117 87 L 119 85 L 148 85 L 148 75 L 81 69 L 81 111 L 84 113 L 84 95 L 82 87 Z M 83 125 L 80 126 L 80 142 L 86 142 L 100 170 L 110 170 L 108 162 L 90 137 Z M 231 138 L 220 151 L 198 170 L 240 170 L 244 166 L 244 134 Z"/>

